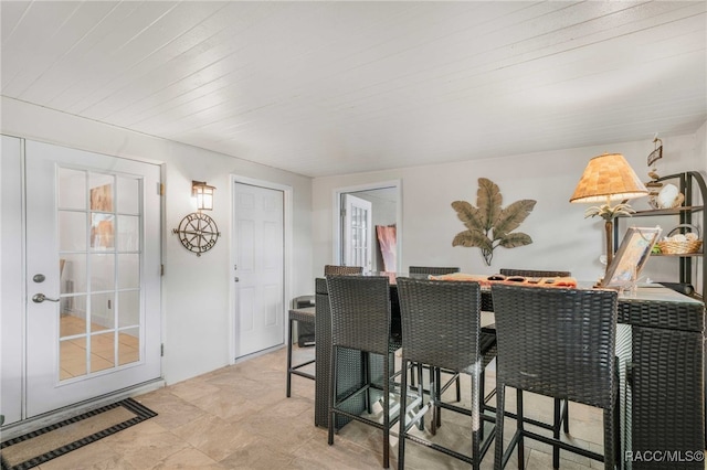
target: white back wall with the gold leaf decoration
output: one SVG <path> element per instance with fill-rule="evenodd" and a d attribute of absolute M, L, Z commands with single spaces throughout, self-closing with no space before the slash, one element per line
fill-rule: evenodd
<path fill-rule="evenodd" d="M 705 127 L 696 135 L 662 137 L 664 152 L 657 162 L 659 174 L 687 170 L 707 173 Z M 603 266 L 599 263 L 604 244 L 603 220 L 584 220 L 583 213 L 589 205 L 570 204 L 569 197 L 589 159 L 604 152 L 623 153 L 639 177 L 647 181 L 646 158 L 653 149 L 651 136 L 640 142 L 317 178 L 313 183 L 314 266 L 331 261 L 330 205 L 334 191 L 340 186 L 400 179 L 403 210 L 401 266 L 404 269 L 411 264 L 460 266 L 462 271 L 474 274 L 494 274 L 502 267 L 567 269 L 578 279 L 595 280 L 603 274 Z M 532 213 L 517 229 L 529 234 L 534 243 L 510 249 L 496 248 L 490 267 L 484 264 L 478 248 L 452 247 L 454 235 L 465 227 L 451 203 L 463 200 L 476 205 L 477 180 L 482 177 L 498 184 L 504 207 L 520 199 L 537 201 Z M 632 203 L 635 209 L 648 209 L 645 199 Z M 647 218 L 635 221 L 641 226 L 655 224 Z M 650 265 L 646 274 L 655 279 L 657 276 L 651 273 Z M 677 264 L 674 270 L 668 268 L 668 271 L 669 276 L 677 276 Z"/>

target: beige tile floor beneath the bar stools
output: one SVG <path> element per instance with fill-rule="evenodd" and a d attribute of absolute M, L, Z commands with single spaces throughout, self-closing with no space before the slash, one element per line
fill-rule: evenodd
<path fill-rule="evenodd" d="M 297 350 L 300 357 L 313 348 Z M 314 382 L 293 377 L 293 396 L 285 397 L 286 351 L 213 371 L 137 396 L 159 416 L 42 464 L 56 469 L 379 469 L 381 431 L 358 423 L 347 425 L 327 445 L 327 430 L 314 426 Z M 493 376 L 487 380 L 493 386 Z M 514 394 L 509 391 L 509 409 Z M 548 398 L 526 399 L 527 412 L 551 416 Z M 572 439 L 601 451 L 601 412 L 570 408 Z M 440 439 L 463 441 L 464 419 L 443 414 Z M 467 418 L 466 418 L 467 419 Z M 468 428 L 468 426 L 466 426 Z M 513 432 L 508 423 L 506 431 Z M 466 469 L 468 464 L 413 442 L 405 447 L 411 470 Z M 397 468 L 398 440 L 391 442 L 391 468 Z M 563 470 L 602 468 L 600 462 L 562 452 Z M 564 460 L 564 458 L 567 460 Z M 526 468 L 551 468 L 549 447 L 526 444 Z M 493 446 L 483 460 L 493 468 Z M 517 468 L 515 455 L 508 468 Z"/>

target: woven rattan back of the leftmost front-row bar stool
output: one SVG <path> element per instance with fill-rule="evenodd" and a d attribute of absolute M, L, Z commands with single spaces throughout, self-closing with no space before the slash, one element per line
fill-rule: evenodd
<path fill-rule="evenodd" d="M 331 344 L 378 354 L 390 348 L 390 286 L 386 276 L 328 275 Z"/>

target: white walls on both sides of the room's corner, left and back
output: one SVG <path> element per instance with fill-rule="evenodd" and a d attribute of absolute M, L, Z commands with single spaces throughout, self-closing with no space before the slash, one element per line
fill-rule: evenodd
<path fill-rule="evenodd" d="M 603 269 L 598 261 L 603 249 L 602 221 L 584 220 L 587 205 L 570 204 L 569 196 L 591 157 L 603 152 L 621 152 L 639 175 L 647 179 L 645 159 L 653 150 L 648 138 L 640 142 L 536 152 L 494 160 L 471 160 L 469 156 L 469 160 L 462 163 L 312 181 L 286 171 L 6 97 L 2 97 L 1 109 L 0 132 L 4 135 L 166 163 L 162 309 L 166 343 L 163 375 L 168 383 L 209 372 L 230 361 L 231 174 L 293 188 L 294 249 L 289 297 L 296 297 L 312 293 L 313 275 L 333 261 L 334 190 L 398 179 L 402 181 L 403 207 L 401 266 L 407 267 L 411 263 L 460 266 L 463 271 L 479 274 L 493 274 L 500 267 L 562 268 L 571 270 L 579 279 L 595 279 Z M 707 173 L 707 124 L 695 135 L 662 138 L 664 157 L 657 163 L 661 174 L 694 169 Z M 475 204 L 477 179 L 481 177 L 499 185 L 504 206 L 519 199 L 538 201 L 534 212 L 519 227 L 519 231 L 532 237 L 534 243 L 513 249 L 497 248 L 490 267 L 484 265 L 478 249 L 452 247 L 452 238 L 464 226 L 450 204 L 455 200 Z M 171 234 L 179 221 L 193 211 L 191 180 L 207 181 L 217 186 L 215 209 L 211 215 L 223 234 L 217 246 L 199 258 L 183 249 Z M 647 207 L 642 200 L 634 205 L 637 209 Z"/>

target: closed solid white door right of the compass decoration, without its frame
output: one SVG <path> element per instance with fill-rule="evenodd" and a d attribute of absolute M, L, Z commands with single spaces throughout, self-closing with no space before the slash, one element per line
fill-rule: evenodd
<path fill-rule="evenodd" d="M 284 343 L 284 192 L 235 182 L 235 357 Z"/>

